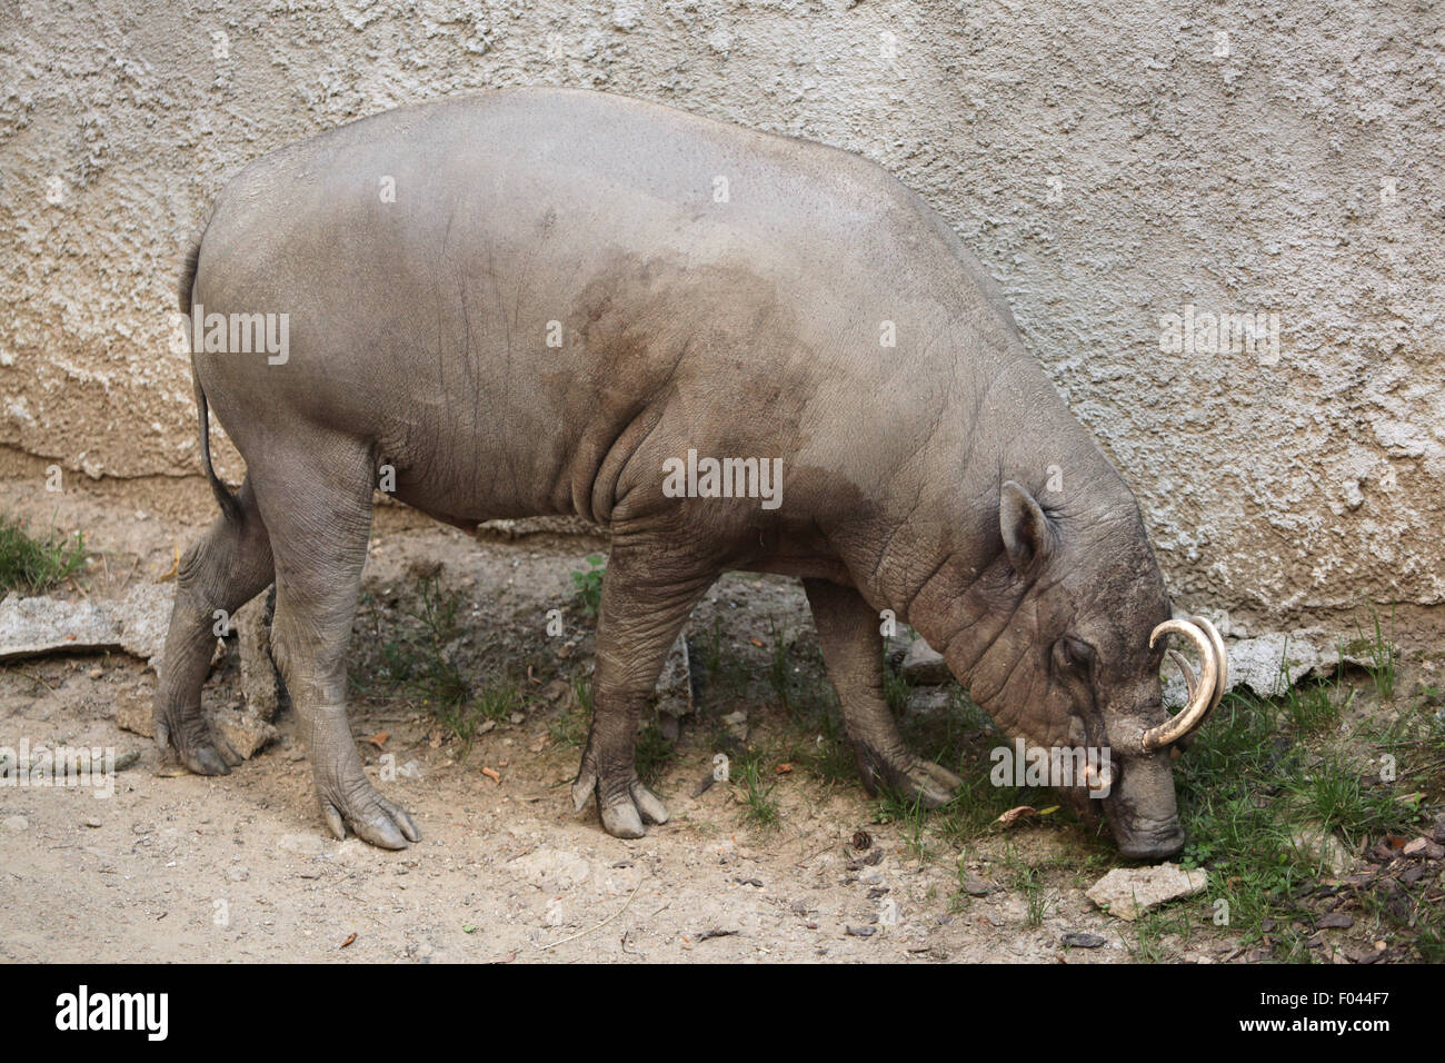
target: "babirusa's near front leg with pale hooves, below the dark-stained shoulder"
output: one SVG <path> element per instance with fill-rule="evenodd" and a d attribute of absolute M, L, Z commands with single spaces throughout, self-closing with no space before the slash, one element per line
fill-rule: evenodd
<path fill-rule="evenodd" d="M 642 837 L 644 823 L 668 821 L 666 806 L 637 778 L 637 725 L 678 632 L 714 579 L 715 570 L 699 571 L 695 558 L 679 555 L 675 541 L 613 541 L 597 615 L 592 729 L 572 801 L 581 811 L 595 794 L 603 829 L 614 837 Z"/>

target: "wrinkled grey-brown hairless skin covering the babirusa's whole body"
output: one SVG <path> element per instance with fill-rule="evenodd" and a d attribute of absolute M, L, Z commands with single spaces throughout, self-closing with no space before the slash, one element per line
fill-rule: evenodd
<path fill-rule="evenodd" d="M 709 584 L 747 570 L 803 580 L 870 790 L 939 804 L 959 781 L 886 707 L 893 610 L 1010 735 L 1111 746 L 1110 798 L 1069 798 L 1103 804 L 1127 855 L 1178 850 L 1166 754 L 1121 755 L 1165 720 L 1147 639 L 1169 607 L 1134 499 L 993 282 L 877 166 L 633 100 L 491 93 L 251 163 L 194 266 L 182 309 L 288 312 L 290 350 L 194 356 L 202 425 L 208 401 L 247 479 L 231 496 L 211 474 L 224 512 L 185 555 L 166 641 L 158 736 L 192 771 L 234 764 L 199 710 L 212 610 L 275 580 L 273 649 L 324 819 L 386 848 L 419 837 L 345 714 L 392 466 L 397 499 L 458 526 L 578 513 L 611 529 L 574 797 L 618 837 L 668 817 L 633 767 L 666 652 Z M 782 457 L 782 506 L 666 498 L 663 461 L 689 447 Z"/>

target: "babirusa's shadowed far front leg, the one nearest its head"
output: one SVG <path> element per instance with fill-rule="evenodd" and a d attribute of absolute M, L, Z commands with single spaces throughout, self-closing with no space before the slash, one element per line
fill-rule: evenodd
<path fill-rule="evenodd" d="M 903 743 L 883 696 L 883 635 L 879 615 L 853 587 L 803 580 L 828 678 L 838 691 L 842 720 L 858 758 L 863 785 L 920 797 L 929 808 L 946 804 L 962 784 L 954 772 L 915 756 Z"/>

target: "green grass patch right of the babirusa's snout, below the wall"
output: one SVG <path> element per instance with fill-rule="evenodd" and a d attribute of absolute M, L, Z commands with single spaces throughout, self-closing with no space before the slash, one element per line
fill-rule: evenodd
<path fill-rule="evenodd" d="M 1394 649 L 1381 628 L 1366 652 L 1376 691 L 1393 694 Z M 1287 662 L 1282 673 L 1287 677 Z M 1345 853 L 1360 853 L 1386 834 L 1409 833 L 1422 819 L 1418 780 L 1442 774 L 1442 762 L 1432 759 L 1428 707 L 1402 709 L 1389 725 L 1366 720 L 1344 735 L 1340 725 L 1353 697 L 1342 671 L 1279 699 L 1231 693 L 1175 765 L 1189 836 L 1182 863 L 1209 871 L 1209 892 L 1196 905 L 1212 915 L 1222 901 L 1227 926 L 1246 943 L 1264 943 L 1279 960 L 1321 957 L 1311 947 L 1314 898 L 1331 872 L 1322 853 L 1311 855 L 1318 846 L 1295 839 L 1325 832 Z M 1381 752 L 1397 758 L 1399 784 L 1381 772 Z M 1370 905 L 1370 897 L 1357 889 L 1351 902 Z M 1433 923 L 1425 905 L 1406 908 L 1415 913 L 1406 921 L 1423 956 L 1435 940 Z"/>

